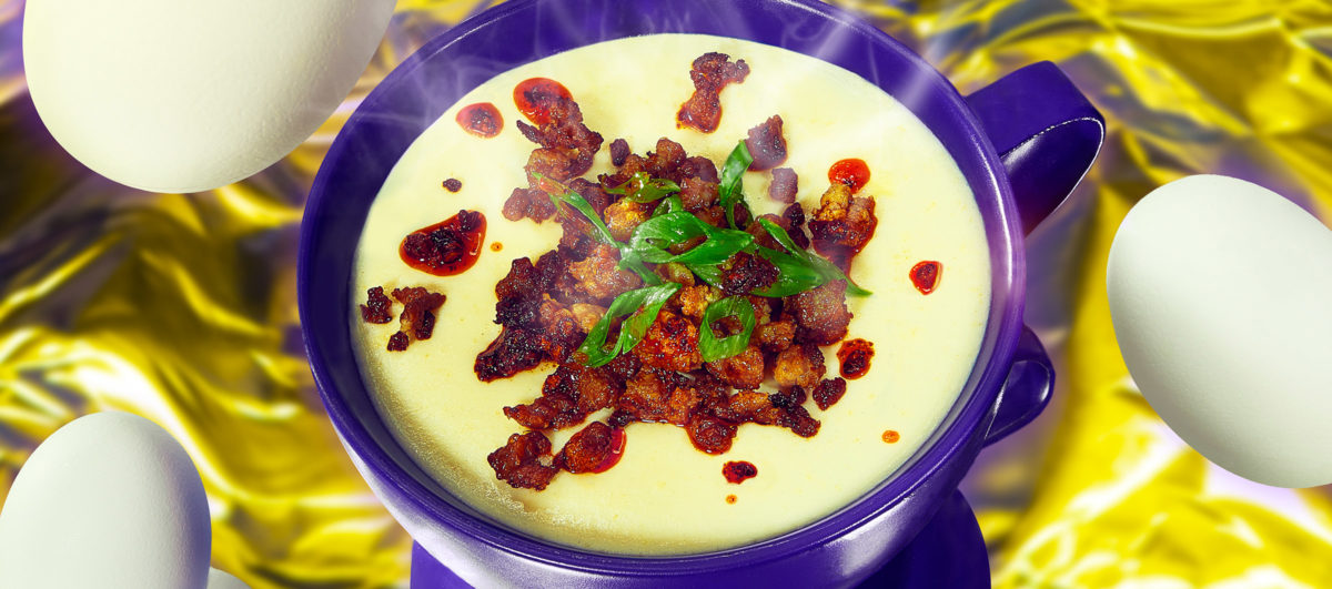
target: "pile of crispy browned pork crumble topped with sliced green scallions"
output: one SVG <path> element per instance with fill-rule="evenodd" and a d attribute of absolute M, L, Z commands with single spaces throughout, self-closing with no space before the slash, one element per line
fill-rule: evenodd
<path fill-rule="evenodd" d="M 695 92 L 681 107 L 679 124 L 714 131 L 721 120 L 721 89 L 747 75 L 743 60 L 722 53 L 697 59 L 690 71 Z M 787 152 L 782 119 L 769 117 L 750 131 L 742 141 L 749 153 L 734 171 L 737 163 L 727 161 L 727 171 L 719 173 L 718 164 L 690 156 L 666 137 L 643 155 L 617 139 L 610 143 L 614 171 L 591 181 L 581 176 L 590 169 L 602 136 L 583 124 L 571 96 L 533 89 L 551 83 L 521 85 L 523 100 L 539 104 L 542 116 L 530 117 L 539 121 L 535 127 L 517 123 L 537 148 L 525 167 L 527 185 L 513 191 L 503 216 L 535 223 L 555 219 L 562 237 L 535 260 L 514 260 L 496 284 L 494 321 L 501 332 L 477 354 L 474 370 L 480 380 L 494 381 L 550 362 L 555 369 L 538 397 L 503 408 L 526 432 L 510 436 L 489 456 L 496 477 L 514 488 L 541 490 L 559 470 L 606 470 L 619 460 L 626 428 L 634 422 L 679 426 L 709 454 L 726 453 L 741 424 L 817 434 L 821 422 L 806 401 L 813 397 L 822 410 L 846 393 L 844 380 L 823 378 L 819 346 L 846 337 L 848 284 L 838 273 L 835 280 L 793 288 L 783 275 L 791 260 L 815 256 L 806 252 L 811 240 L 805 209 L 795 203 L 795 172 L 775 168 Z M 781 216 L 751 219 L 743 196 L 735 200 L 738 175 L 746 168 L 775 168 L 769 196 L 790 204 Z M 641 253 L 625 257 L 633 251 L 629 244 L 642 248 L 646 243 L 641 225 L 689 221 L 681 215 L 698 225 L 677 241 L 649 243 L 658 248 L 654 255 L 659 257 L 653 260 L 659 261 L 649 263 Z M 848 264 L 874 231 L 874 200 L 831 187 L 811 220 L 815 239 L 835 247 L 839 263 Z M 687 256 L 673 261 L 702 243 L 721 240 L 719 232 L 753 245 L 711 265 L 691 265 Z M 798 251 L 783 249 L 786 244 Z M 643 301 L 654 294 L 659 300 L 649 312 Z M 633 308 L 618 308 L 617 301 L 630 298 Z M 775 382 L 778 392 L 759 392 L 765 381 Z M 583 426 L 598 412 L 609 412 L 605 422 Z M 551 454 L 545 432 L 577 426 L 582 429 Z M 757 474 L 747 462 L 729 462 L 727 469 L 737 480 Z"/>

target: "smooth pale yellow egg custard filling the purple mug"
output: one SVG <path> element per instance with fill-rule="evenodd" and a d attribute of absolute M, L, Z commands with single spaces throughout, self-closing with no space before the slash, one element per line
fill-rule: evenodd
<path fill-rule="evenodd" d="M 713 121 L 713 132 L 681 124 L 682 104 L 702 88 L 691 80 L 691 64 L 707 52 L 725 53 L 733 63 L 743 60 L 749 68 L 742 81 L 721 88 L 721 117 Z M 551 456 L 545 454 L 561 453 L 571 437 L 594 422 L 611 424 L 598 428 L 615 433 L 610 442 L 618 461 L 566 469 L 549 481 L 543 478 L 538 485 L 542 490 L 497 478 L 497 468 L 488 457 L 493 458 L 497 448 L 511 448 L 506 446 L 510 436 L 526 432 L 505 414 L 505 408 L 533 404 L 557 368 L 557 362 L 545 361 L 511 376 L 490 374 L 488 381 L 477 372 L 478 354 L 502 338 L 496 322 L 497 284 L 525 264 L 521 259 L 537 263 L 555 249 L 565 233 L 557 217 L 534 223 L 503 215 L 515 188 L 545 181 L 525 171 L 538 145 L 517 125 L 538 120 L 521 112 L 522 100 L 515 104 L 514 89 L 533 79 L 567 88 L 586 128 L 605 137 L 599 149 L 587 153 L 590 169 L 578 176 L 591 183 L 599 175 L 617 172 L 611 161 L 614 140 L 623 139 L 633 153 L 646 157 L 662 149 L 662 137 L 678 143 L 691 157 L 714 163 L 725 180 L 725 163 L 734 156 L 737 141 L 774 116 L 782 121 L 778 132 L 786 156 L 777 168 L 789 168 L 798 179 L 795 199 L 809 224 L 817 219 L 821 197 L 832 181 L 863 183 L 855 196 L 872 199 L 878 223 L 847 276 L 870 294 L 844 297 L 852 317 L 839 341 L 801 348 L 822 352 L 826 373 L 815 378 L 818 386 L 814 380 L 806 382 L 810 386 L 803 390 L 813 394 L 801 393 L 799 406 L 783 405 L 778 410 L 766 405 L 782 416 L 775 424 L 731 424 L 735 430 L 726 440 L 729 448 L 717 452 L 718 446 L 709 446 L 714 453 L 702 452 L 705 446 L 695 438 L 706 432 L 646 422 L 653 420 L 626 422 L 613 408 L 599 408 L 573 426 L 539 433 L 549 438 L 549 449 L 538 448 L 543 456 L 531 466 L 550 470 Z M 623 160 L 623 144 L 618 148 L 614 159 Z M 787 211 L 786 203 L 770 197 L 770 188 L 774 177 L 786 183 L 789 172 L 750 169 L 739 176 L 753 217 Z M 558 193 L 566 184 L 575 181 L 545 185 L 558 187 L 550 191 Z M 682 191 L 687 192 L 687 187 Z M 561 215 L 566 213 L 578 215 L 571 207 Z M 615 232 L 618 219 L 613 216 L 607 207 L 606 223 Z M 449 273 L 424 272 L 404 263 L 404 239 L 446 220 L 470 231 L 457 235 L 484 236 L 468 248 L 472 265 Z M 725 229 L 727 221 L 713 223 Z M 484 224 L 481 229 L 478 223 Z M 623 268 L 615 276 L 637 280 Z M 713 36 L 653 35 L 587 45 L 522 65 L 450 107 L 404 153 L 381 188 L 357 247 L 353 281 L 360 298 L 356 302 L 366 302 L 362 293 L 377 287 L 384 293 L 422 288 L 432 296 L 442 294 L 426 297 L 428 302 L 417 308 L 432 309 L 429 338 L 397 337 L 396 332 L 408 329 L 398 321 L 362 321 L 356 305 L 349 312 L 354 316 L 353 341 L 361 372 L 380 414 L 397 441 L 445 489 L 494 520 L 547 541 L 619 554 L 685 554 L 791 532 L 854 502 L 891 477 L 939 426 L 971 372 L 990 305 L 990 256 L 980 213 L 958 165 L 910 111 L 879 88 L 781 48 Z M 698 276 L 687 281 L 703 285 Z M 416 300 L 426 300 L 422 297 Z M 774 312 L 773 321 L 795 313 L 793 297 L 782 301 L 786 314 Z M 393 318 L 404 306 L 412 306 L 388 298 L 381 302 L 392 305 Z M 579 309 L 597 310 L 579 317 L 585 328 L 606 306 L 605 301 L 599 306 L 571 305 L 574 314 Z M 658 321 L 638 345 L 657 346 L 653 349 L 665 362 L 697 354 L 693 349 L 662 350 L 661 342 L 653 341 L 653 329 L 666 317 L 687 314 L 685 306 L 675 298 L 662 306 Z M 410 322 L 421 324 L 420 318 Z M 617 324 L 618 329 L 629 329 L 629 322 Z M 801 325 L 798 338 L 809 334 Z M 761 328 L 755 328 L 755 341 Z M 394 337 L 401 345 L 394 346 Z M 614 332 L 607 341 L 615 341 Z M 635 353 L 642 350 L 635 348 L 625 356 Z M 747 393 L 767 402 L 767 393 L 775 397 L 790 390 L 778 384 L 790 376 L 782 366 L 774 372 L 775 354 L 763 354 L 769 368 L 759 372 L 758 392 L 765 394 L 753 397 L 737 386 L 735 396 Z M 762 370 L 762 361 L 758 365 Z M 827 388 L 823 382 L 840 380 L 838 374 L 847 374 L 848 366 L 850 376 L 863 376 L 846 378 L 844 394 L 821 409 L 827 400 L 819 396 Z M 702 369 L 691 373 L 701 374 L 698 378 L 681 374 L 685 381 L 710 378 Z M 783 398 L 790 404 L 793 397 Z M 793 416 L 809 417 L 795 420 L 805 425 L 813 420 L 817 433 L 791 425 Z"/>

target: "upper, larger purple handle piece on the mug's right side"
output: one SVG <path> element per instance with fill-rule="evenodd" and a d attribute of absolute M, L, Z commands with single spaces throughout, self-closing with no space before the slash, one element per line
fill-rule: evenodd
<path fill-rule="evenodd" d="M 1050 61 L 1018 69 L 966 100 L 1008 172 L 1022 232 L 1031 233 L 1091 169 L 1106 120 Z"/>

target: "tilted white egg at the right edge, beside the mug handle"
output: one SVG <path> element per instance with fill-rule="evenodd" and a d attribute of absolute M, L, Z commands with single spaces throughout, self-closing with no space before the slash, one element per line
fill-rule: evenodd
<path fill-rule="evenodd" d="M 1192 176 L 1124 219 L 1106 276 L 1152 408 L 1221 468 L 1332 482 L 1332 232 L 1280 195 Z"/>

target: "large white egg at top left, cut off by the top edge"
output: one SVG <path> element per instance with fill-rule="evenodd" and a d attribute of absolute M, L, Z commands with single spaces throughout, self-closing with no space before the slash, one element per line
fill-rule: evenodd
<path fill-rule="evenodd" d="M 194 192 L 296 148 L 346 97 L 393 0 L 28 0 L 28 89 L 117 183 Z"/>

